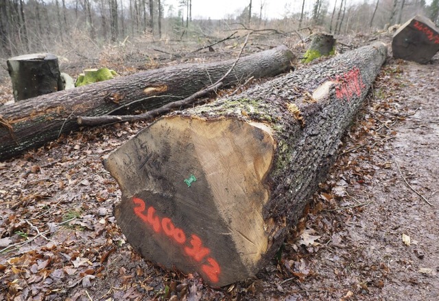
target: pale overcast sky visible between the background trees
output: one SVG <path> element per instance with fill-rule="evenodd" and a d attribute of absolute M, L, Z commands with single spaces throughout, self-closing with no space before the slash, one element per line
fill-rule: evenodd
<path fill-rule="evenodd" d="M 173 4 L 174 12 L 177 12 L 178 0 L 162 0 L 166 5 Z M 252 10 L 255 14 L 259 14 L 261 1 L 265 2 L 262 14 L 265 18 L 282 18 L 285 16 L 287 9 L 290 12 L 300 12 L 302 0 L 252 0 Z M 333 8 L 335 0 L 327 0 L 329 8 Z M 361 3 L 364 0 L 348 0 L 347 5 Z M 427 0 L 427 4 L 432 0 Z M 340 2 L 340 0 L 338 1 Z M 376 0 L 367 0 L 368 3 L 376 3 Z M 227 14 L 236 15 L 250 3 L 250 0 L 192 0 L 192 18 L 213 18 L 221 19 Z M 313 0 L 305 1 L 305 10 L 311 10 Z M 165 10 L 165 15 L 167 11 Z"/>

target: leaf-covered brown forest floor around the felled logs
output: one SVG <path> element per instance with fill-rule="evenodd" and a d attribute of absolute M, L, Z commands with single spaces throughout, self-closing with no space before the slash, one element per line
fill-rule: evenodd
<path fill-rule="evenodd" d="M 112 216 L 120 192 L 101 159 L 145 122 L 0 162 L 0 300 L 438 300 L 438 99 L 438 55 L 389 56 L 281 256 L 222 288 L 143 260 Z"/>

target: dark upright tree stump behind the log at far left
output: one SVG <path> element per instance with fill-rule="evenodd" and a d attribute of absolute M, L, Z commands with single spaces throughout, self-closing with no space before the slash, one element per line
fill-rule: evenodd
<path fill-rule="evenodd" d="M 64 90 L 56 55 L 33 53 L 11 57 L 8 71 L 15 101 Z"/>

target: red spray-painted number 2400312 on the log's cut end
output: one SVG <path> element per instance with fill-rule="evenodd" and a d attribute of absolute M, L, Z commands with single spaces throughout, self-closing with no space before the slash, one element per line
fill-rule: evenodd
<path fill-rule="evenodd" d="M 147 213 L 143 213 L 146 209 L 145 202 L 141 198 L 132 198 L 137 207 L 134 207 L 134 213 L 141 219 L 147 226 L 150 226 L 155 233 L 162 233 L 169 237 L 171 241 L 176 242 L 179 245 L 183 245 L 183 251 L 187 256 L 194 259 L 196 262 L 204 262 L 201 265 L 201 270 L 211 280 L 212 283 L 217 283 L 219 280 L 219 274 L 221 268 L 215 259 L 207 257 L 211 250 L 203 246 L 203 242 L 198 235 L 192 234 L 189 244 L 187 243 L 187 237 L 185 232 L 177 228 L 170 218 L 160 218 L 156 214 L 156 209 L 152 206 L 147 208 Z"/>

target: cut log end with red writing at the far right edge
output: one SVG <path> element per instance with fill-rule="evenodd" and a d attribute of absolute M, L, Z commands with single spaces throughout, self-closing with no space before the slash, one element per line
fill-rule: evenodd
<path fill-rule="evenodd" d="M 439 29 L 425 16 L 414 16 L 393 36 L 392 52 L 396 59 L 427 64 L 439 51 Z"/>

